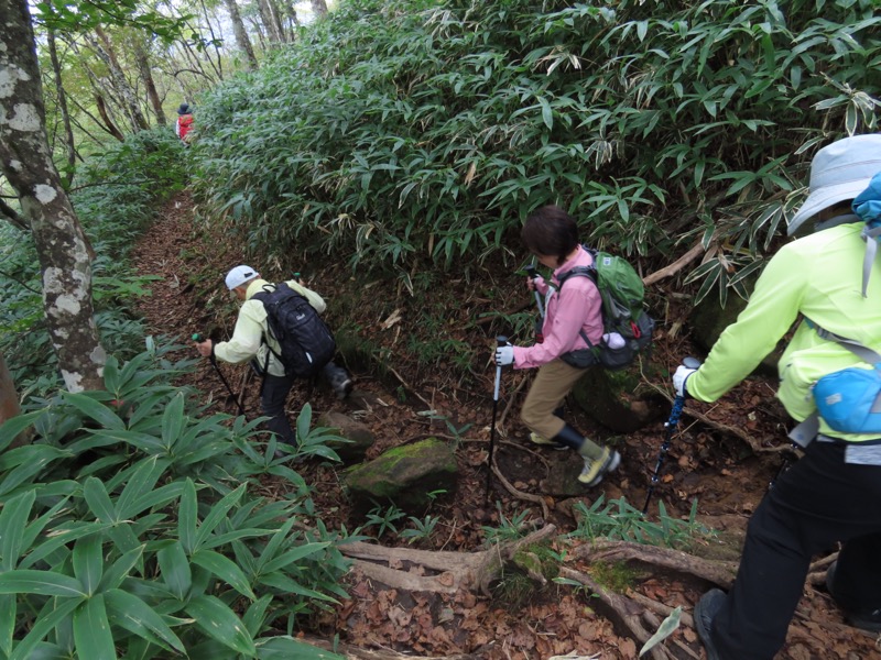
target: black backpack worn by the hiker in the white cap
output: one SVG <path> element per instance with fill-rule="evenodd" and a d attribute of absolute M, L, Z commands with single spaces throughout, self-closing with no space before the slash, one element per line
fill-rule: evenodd
<path fill-rule="evenodd" d="M 317 375 L 334 358 L 337 344 L 308 298 L 283 282 L 274 290 L 264 286 L 253 297 L 267 309 L 267 324 L 281 346 L 281 355 L 269 342 L 267 348 L 284 365 L 284 372 L 298 378 Z"/>

